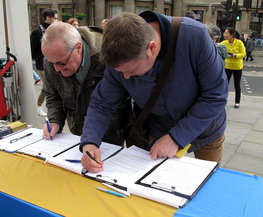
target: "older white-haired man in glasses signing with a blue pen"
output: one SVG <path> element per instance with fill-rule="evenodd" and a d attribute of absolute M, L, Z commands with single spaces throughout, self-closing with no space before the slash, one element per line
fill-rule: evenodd
<path fill-rule="evenodd" d="M 50 139 L 63 130 L 65 120 L 72 134 L 82 135 L 91 93 L 104 75 L 105 65 L 99 61 L 102 29 L 98 27 L 74 28 L 56 22 L 42 38 L 45 83 L 43 93 L 51 132 L 43 126 L 43 138 Z M 130 102 L 129 94 L 123 100 L 108 125 L 103 141 L 122 145 L 120 138 L 123 108 Z M 100 129 L 96 129 L 100 130 Z"/>

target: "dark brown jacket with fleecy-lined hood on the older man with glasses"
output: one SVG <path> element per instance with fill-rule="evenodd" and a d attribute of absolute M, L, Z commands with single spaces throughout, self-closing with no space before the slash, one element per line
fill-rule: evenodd
<path fill-rule="evenodd" d="M 70 132 L 80 136 L 82 135 L 84 117 L 91 100 L 91 94 L 103 77 L 105 65 L 99 62 L 102 29 L 99 27 L 79 27 L 77 30 L 82 39 L 88 42 L 90 46 L 91 65 L 86 79 L 79 85 L 74 74 L 69 77 L 63 76 L 60 71 L 55 71 L 53 64 L 44 58 L 45 80 L 42 91 L 47 96 L 46 106 L 49 122 L 59 124 L 59 132 L 61 132 L 67 119 Z M 123 140 L 120 138 L 120 134 L 123 128 L 123 115 L 128 103 L 130 103 L 130 95 L 127 93 L 123 96 L 117 112 L 109 123 L 102 139 L 104 142 L 122 145 Z"/>

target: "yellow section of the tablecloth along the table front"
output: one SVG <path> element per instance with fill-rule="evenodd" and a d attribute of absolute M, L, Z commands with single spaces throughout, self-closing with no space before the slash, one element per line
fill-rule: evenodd
<path fill-rule="evenodd" d="M 101 183 L 43 160 L 0 152 L 0 191 L 64 216 L 172 216 L 171 206 L 135 195 L 117 197 Z"/>

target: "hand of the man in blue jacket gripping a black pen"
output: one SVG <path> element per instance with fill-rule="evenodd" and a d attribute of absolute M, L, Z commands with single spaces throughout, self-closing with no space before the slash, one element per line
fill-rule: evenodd
<path fill-rule="evenodd" d="M 92 160 L 87 154 L 88 151 L 98 163 Z M 101 161 L 101 150 L 98 149 L 95 145 L 84 145 L 83 146 L 83 154 L 81 158 L 81 164 L 85 167 L 89 172 L 99 172 L 102 171 L 103 168 L 101 165 L 104 163 Z"/>

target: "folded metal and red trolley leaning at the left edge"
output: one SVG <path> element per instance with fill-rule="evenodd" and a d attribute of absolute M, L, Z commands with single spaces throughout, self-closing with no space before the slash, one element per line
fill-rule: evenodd
<path fill-rule="evenodd" d="M 0 58 L 0 119 L 14 122 L 21 118 L 17 58 L 8 51 L 5 53 L 14 60 Z"/>

